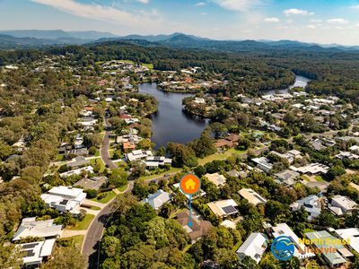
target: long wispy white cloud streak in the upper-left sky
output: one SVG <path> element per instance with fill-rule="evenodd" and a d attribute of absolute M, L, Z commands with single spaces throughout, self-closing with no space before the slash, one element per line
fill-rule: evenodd
<path fill-rule="evenodd" d="M 129 13 L 118 8 L 101 4 L 83 4 L 74 0 L 31 0 L 38 4 L 46 4 L 65 13 L 78 17 L 98 20 L 102 22 L 114 22 L 120 25 L 131 26 L 138 30 L 148 30 L 152 27 L 161 29 L 162 20 L 153 13 Z M 148 0 L 139 0 L 148 2 Z"/>

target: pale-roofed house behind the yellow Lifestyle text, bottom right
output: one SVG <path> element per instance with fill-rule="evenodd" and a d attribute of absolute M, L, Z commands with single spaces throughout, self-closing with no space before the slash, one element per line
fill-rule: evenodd
<path fill-rule="evenodd" d="M 329 247 L 337 248 L 337 251 L 320 252 L 320 255 L 330 267 L 340 267 L 346 264 L 346 257 L 353 256 L 343 244 L 337 244 L 337 238 L 330 235 L 326 230 L 306 232 L 305 236 L 311 240 L 311 245 L 318 249 L 329 249 Z M 330 242 L 330 245 L 328 245 L 328 242 Z"/>

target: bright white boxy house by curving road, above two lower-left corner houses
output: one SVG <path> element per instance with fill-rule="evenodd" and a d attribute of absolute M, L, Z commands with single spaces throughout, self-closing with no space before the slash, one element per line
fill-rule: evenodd
<path fill-rule="evenodd" d="M 80 205 L 86 199 L 83 189 L 76 187 L 53 187 L 47 194 L 42 194 L 41 199 L 47 207 L 55 208 L 61 213 L 80 213 Z"/>

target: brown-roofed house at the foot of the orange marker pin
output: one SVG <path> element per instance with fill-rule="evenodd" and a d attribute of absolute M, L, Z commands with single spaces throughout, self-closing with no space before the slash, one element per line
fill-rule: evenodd
<path fill-rule="evenodd" d="M 212 228 L 212 223 L 210 221 L 199 221 L 197 217 L 191 214 L 190 221 L 192 225 L 188 225 L 189 220 L 189 211 L 182 211 L 176 214 L 176 219 L 179 221 L 180 226 L 188 232 L 188 236 L 191 239 L 192 243 L 196 242 L 197 239 L 206 236 L 208 230 Z"/>

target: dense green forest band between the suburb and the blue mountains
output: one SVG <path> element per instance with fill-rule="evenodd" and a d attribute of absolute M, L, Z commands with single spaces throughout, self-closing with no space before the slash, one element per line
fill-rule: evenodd
<path fill-rule="evenodd" d="M 200 66 L 208 73 L 223 74 L 230 82 L 229 91 L 258 91 L 283 88 L 293 82 L 294 74 L 313 79 L 308 91 L 333 93 L 341 98 L 359 101 L 359 53 L 336 50 L 316 51 L 308 48 L 215 52 L 200 49 L 156 47 L 155 43 L 108 41 L 88 46 L 44 48 L 0 52 L 0 65 L 31 62 L 39 56 L 71 55 L 66 63 L 74 66 L 96 65 L 112 59 L 153 63 L 157 70 L 180 70 Z"/>

